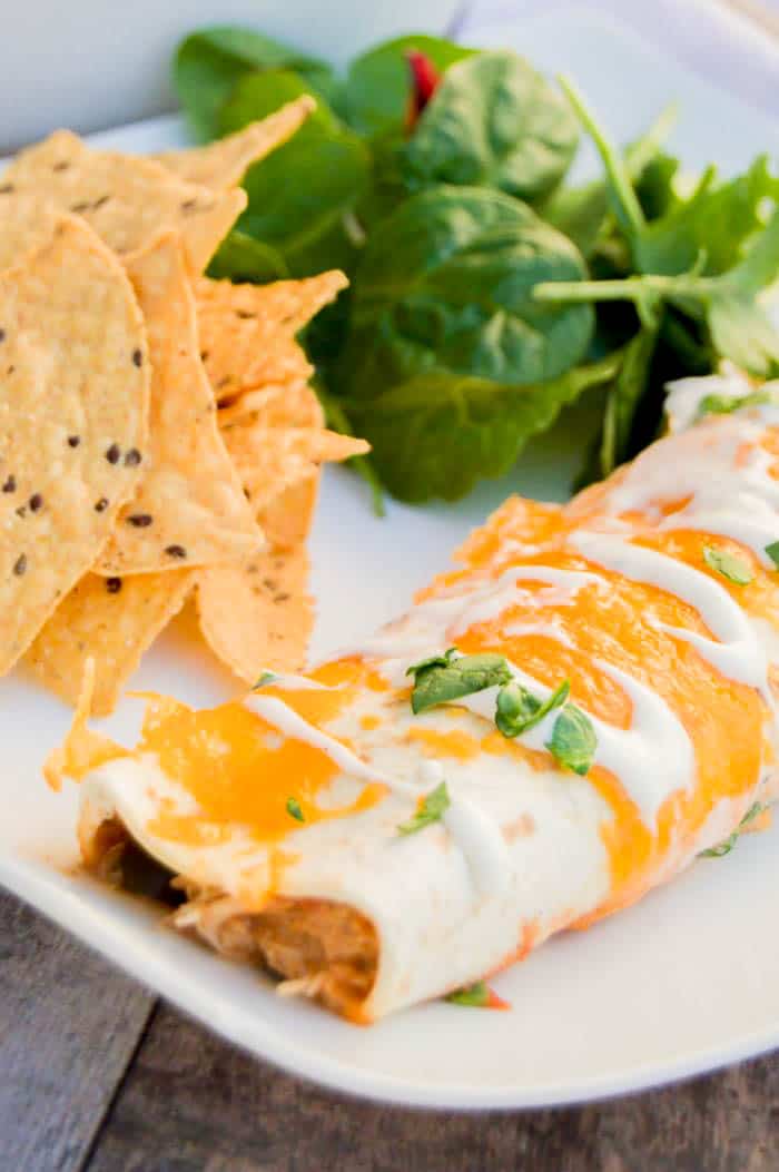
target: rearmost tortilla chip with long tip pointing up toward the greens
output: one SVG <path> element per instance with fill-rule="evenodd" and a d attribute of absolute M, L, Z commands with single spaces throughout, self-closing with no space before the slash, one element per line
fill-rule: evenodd
<path fill-rule="evenodd" d="M 314 98 L 305 94 L 267 118 L 252 122 L 226 138 L 190 150 L 169 150 L 153 157 L 179 179 L 199 183 L 212 191 L 228 191 L 238 186 L 252 163 L 259 163 L 292 138 L 315 107 Z"/>

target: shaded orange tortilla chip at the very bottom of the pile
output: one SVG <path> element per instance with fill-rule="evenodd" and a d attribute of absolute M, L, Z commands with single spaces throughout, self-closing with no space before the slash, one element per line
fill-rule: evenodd
<path fill-rule="evenodd" d="M 107 716 L 143 653 L 183 607 L 194 577 L 193 570 L 128 578 L 87 574 L 35 639 L 27 665 L 46 688 L 75 704 L 93 659 L 91 713 Z"/>

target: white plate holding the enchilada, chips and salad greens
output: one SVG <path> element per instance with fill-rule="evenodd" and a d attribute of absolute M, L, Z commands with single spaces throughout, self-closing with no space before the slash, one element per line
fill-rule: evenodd
<path fill-rule="evenodd" d="M 496 40 L 510 35 L 496 30 Z M 634 36 L 583 18 L 565 27 L 537 19 L 514 43 L 547 68 L 574 73 L 621 136 L 675 95 L 684 108 L 677 146 L 691 164 L 717 158 L 731 170 L 759 150 L 775 152 L 775 123 Z M 102 137 L 143 151 L 180 136 L 177 122 L 163 120 Z M 328 471 L 313 537 L 315 654 L 402 609 L 512 489 L 561 497 L 572 447 L 553 437 L 533 445 L 514 476 L 460 505 L 391 505 L 384 522 L 371 517 L 349 473 Z M 193 702 L 231 688 L 186 619 L 134 682 Z M 510 1013 L 438 1003 L 361 1029 L 275 997 L 251 969 L 166 931 L 149 907 L 69 874 L 76 789 L 54 795 L 39 771 L 69 714 L 23 670 L 0 681 L 0 881 L 212 1029 L 296 1074 L 399 1103 L 520 1108 L 637 1090 L 779 1045 L 779 825 L 500 976 Z M 128 721 L 119 714 L 111 724 L 127 729 Z"/>

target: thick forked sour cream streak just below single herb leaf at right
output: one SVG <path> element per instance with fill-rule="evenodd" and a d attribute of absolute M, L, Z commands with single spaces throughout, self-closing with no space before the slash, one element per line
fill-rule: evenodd
<path fill-rule="evenodd" d="M 757 688 L 773 707 L 767 656 L 749 618 L 724 586 L 693 566 L 619 538 L 582 530 L 572 536 L 570 543 L 606 570 L 614 570 L 633 581 L 657 586 L 689 602 L 719 642 L 665 622 L 657 621 L 655 625 L 690 643 L 723 675 Z"/>

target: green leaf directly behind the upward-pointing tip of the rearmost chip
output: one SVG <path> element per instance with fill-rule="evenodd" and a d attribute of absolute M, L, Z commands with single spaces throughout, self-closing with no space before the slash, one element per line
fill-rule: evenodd
<path fill-rule="evenodd" d="M 223 107 L 219 128 L 240 130 L 303 93 L 310 89 L 295 74 L 252 74 Z M 368 175 L 364 143 L 320 101 L 288 143 L 250 168 L 239 230 L 275 248 L 292 277 L 348 267 L 356 252 L 350 213 Z"/>

